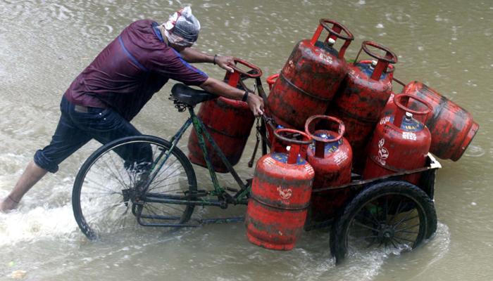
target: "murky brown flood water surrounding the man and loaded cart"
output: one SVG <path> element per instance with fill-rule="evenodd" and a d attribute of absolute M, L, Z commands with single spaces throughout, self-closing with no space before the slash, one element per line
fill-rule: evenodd
<path fill-rule="evenodd" d="M 347 58 L 363 40 L 384 44 L 399 55 L 395 77 L 423 81 L 470 111 L 478 135 L 458 162 L 440 161 L 437 235 L 412 253 L 356 255 L 342 266 L 330 256 L 328 233 L 304 233 L 292 251 L 268 251 L 246 240 L 243 223 L 142 228 L 89 242 L 70 195 L 80 165 L 99 147 L 92 142 L 28 192 L 18 210 L 0 214 L 0 280 L 16 270 L 25 280 L 493 279 L 492 1 L 0 0 L 0 197 L 49 143 L 63 92 L 94 56 L 133 20 L 162 22 L 185 4 L 201 21 L 196 48 L 248 60 L 265 77 L 280 70 L 297 41 L 311 38 L 320 18 L 332 18 L 355 35 Z M 199 68 L 224 74 L 214 65 Z M 185 120 L 168 100 L 172 85 L 133 121 L 143 133 L 169 138 Z M 253 173 L 246 166 L 253 145 L 252 135 L 237 166 L 244 178 Z M 211 186 L 205 169 L 196 174 Z"/>

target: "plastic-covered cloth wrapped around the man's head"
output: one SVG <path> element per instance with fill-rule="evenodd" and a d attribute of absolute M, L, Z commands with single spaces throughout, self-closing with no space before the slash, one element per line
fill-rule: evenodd
<path fill-rule="evenodd" d="M 169 20 L 163 25 L 171 44 L 192 46 L 199 38 L 200 22 L 192 15 L 190 6 L 170 15 Z"/>

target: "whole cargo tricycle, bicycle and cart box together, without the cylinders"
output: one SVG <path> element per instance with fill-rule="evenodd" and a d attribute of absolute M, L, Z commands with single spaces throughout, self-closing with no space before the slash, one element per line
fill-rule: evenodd
<path fill-rule="evenodd" d="M 251 75 L 239 69 L 235 71 L 243 77 Z M 259 77 L 256 88 L 265 98 Z M 72 195 L 75 220 L 82 233 L 90 240 L 101 239 L 135 220 L 141 226 L 166 228 L 242 221 L 242 217 L 192 218 L 196 207 L 227 209 L 230 205 L 247 204 L 250 195 L 251 179 L 244 181 L 237 174 L 195 115 L 196 105 L 213 98 L 216 96 L 211 93 L 177 84 L 170 99 L 177 110 L 188 111 L 190 117 L 169 141 L 156 136 L 130 136 L 107 143 L 89 156 L 75 178 Z M 177 146 L 191 125 L 199 137 L 213 188 L 197 182 L 194 166 Z M 272 119 L 257 120 L 256 148 L 261 142 L 263 155 L 269 147 L 268 126 L 275 126 Z M 219 183 L 205 141 L 212 144 L 223 160 L 237 188 Z M 255 152 L 251 164 L 253 159 Z M 330 248 L 338 262 L 354 248 L 414 249 L 432 237 L 437 228 L 432 198 L 435 173 L 440 167 L 439 162 L 428 155 L 428 163 L 421 169 L 366 181 L 354 174 L 347 185 L 315 190 L 333 199 L 327 206 L 332 213 L 323 221 L 312 221 L 308 216 L 305 229 L 329 229 L 331 239 L 327 249 Z M 408 174 L 420 174 L 420 183 L 413 185 L 404 181 L 403 176 Z"/>

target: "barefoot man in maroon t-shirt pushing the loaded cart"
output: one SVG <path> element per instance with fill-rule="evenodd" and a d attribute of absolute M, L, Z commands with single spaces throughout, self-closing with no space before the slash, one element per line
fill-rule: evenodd
<path fill-rule="evenodd" d="M 35 153 L 11 193 L 0 202 L 0 211 L 18 206 L 21 198 L 48 171 L 92 138 L 108 143 L 141 134 L 130 120 L 154 93 L 174 79 L 219 96 L 244 100 L 254 115 L 263 114 L 263 100 L 207 76 L 189 63 L 213 63 L 232 71 L 231 57 L 208 55 L 191 48 L 200 23 L 190 7 L 158 25 L 138 20 L 104 48 L 73 81 L 61 101 L 61 117 L 51 143 Z"/>

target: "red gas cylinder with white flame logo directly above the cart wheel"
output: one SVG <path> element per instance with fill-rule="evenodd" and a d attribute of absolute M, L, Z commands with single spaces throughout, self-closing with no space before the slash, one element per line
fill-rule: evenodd
<path fill-rule="evenodd" d="M 425 110 L 411 110 L 407 102 L 421 103 Z M 397 106 L 393 115 L 383 117 L 373 133 L 363 179 L 377 178 L 387 174 L 418 169 L 425 166 L 430 150 L 431 134 L 423 124 L 431 107 L 425 100 L 410 95 L 394 96 Z M 422 117 L 420 121 L 413 117 Z M 419 174 L 405 177 L 418 184 Z"/>

